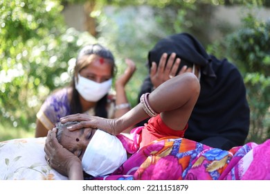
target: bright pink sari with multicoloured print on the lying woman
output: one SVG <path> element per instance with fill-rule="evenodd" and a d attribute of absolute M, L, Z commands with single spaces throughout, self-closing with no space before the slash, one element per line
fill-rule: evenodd
<path fill-rule="evenodd" d="M 120 140 L 129 152 L 138 148 Z M 231 150 L 210 148 L 183 138 L 166 137 L 139 149 L 113 174 L 95 179 L 270 179 L 270 140 Z"/>

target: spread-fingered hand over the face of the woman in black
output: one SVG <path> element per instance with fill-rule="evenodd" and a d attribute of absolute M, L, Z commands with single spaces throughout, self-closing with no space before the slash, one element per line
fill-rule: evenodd
<path fill-rule="evenodd" d="M 157 67 L 157 64 L 155 62 L 152 62 L 152 67 L 150 69 L 150 78 L 152 84 L 154 85 L 154 88 L 159 87 L 159 85 L 169 80 L 170 78 L 173 78 L 174 76 L 178 76 L 181 73 L 186 72 L 188 67 L 184 66 L 177 74 L 177 69 L 179 68 L 181 59 L 177 58 L 175 60 L 176 57 L 177 57 L 176 53 L 172 53 L 166 64 L 168 54 L 163 53 L 163 55 L 161 56 L 161 60 L 159 60 L 159 67 Z"/>

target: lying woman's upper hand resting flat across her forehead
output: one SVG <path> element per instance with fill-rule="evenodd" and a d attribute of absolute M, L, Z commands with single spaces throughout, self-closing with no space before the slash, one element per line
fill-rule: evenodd
<path fill-rule="evenodd" d="M 116 131 L 116 120 L 109 118 L 102 118 L 99 116 L 89 116 L 87 114 L 71 114 L 69 116 L 64 116 L 60 118 L 61 123 L 66 123 L 69 121 L 78 121 L 75 125 L 67 127 L 70 131 L 79 130 L 86 127 L 91 127 L 93 129 L 100 129 L 108 132 L 109 134 L 119 134 Z"/>

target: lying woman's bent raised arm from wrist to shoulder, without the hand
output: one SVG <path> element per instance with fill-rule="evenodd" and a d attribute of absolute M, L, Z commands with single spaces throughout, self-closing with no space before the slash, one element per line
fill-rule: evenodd
<path fill-rule="evenodd" d="M 199 96 L 199 82 L 192 73 L 184 73 L 164 82 L 148 96 L 147 102 L 157 114 L 161 113 L 164 123 L 174 130 L 183 130 Z M 127 114 L 116 120 L 117 132 L 150 116 L 139 103 Z"/>

